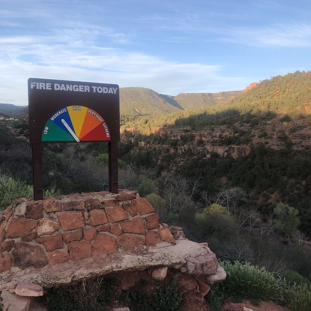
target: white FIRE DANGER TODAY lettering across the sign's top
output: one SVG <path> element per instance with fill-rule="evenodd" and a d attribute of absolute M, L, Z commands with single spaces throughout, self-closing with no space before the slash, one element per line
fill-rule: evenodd
<path fill-rule="evenodd" d="M 31 82 L 31 89 L 40 90 L 54 90 L 65 92 L 83 92 L 83 93 L 108 93 L 116 94 L 118 87 L 105 87 L 105 86 L 84 86 L 77 84 L 59 84 L 59 83 L 45 83 L 45 82 Z"/>

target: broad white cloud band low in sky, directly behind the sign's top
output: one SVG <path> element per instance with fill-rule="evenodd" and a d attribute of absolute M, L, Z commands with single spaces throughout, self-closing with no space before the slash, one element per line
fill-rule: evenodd
<path fill-rule="evenodd" d="M 222 76 L 221 66 L 172 62 L 91 42 L 86 46 L 83 40 L 77 43 L 75 35 L 66 44 L 63 40 L 51 44 L 54 37 L 0 37 L 1 102 L 27 104 L 29 77 L 142 86 L 171 95 L 220 91 L 225 84 L 229 90 L 244 82 Z"/>

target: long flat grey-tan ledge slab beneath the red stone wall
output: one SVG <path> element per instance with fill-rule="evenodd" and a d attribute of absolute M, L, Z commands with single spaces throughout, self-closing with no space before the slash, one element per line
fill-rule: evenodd
<path fill-rule="evenodd" d="M 18 282 L 34 283 L 50 288 L 87 277 L 104 276 L 111 272 L 144 270 L 150 267 L 167 266 L 179 268 L 186 258 L 205 255 L 207 248 L 189 240 L 178 240 L 176 245 L 131 250 L 113 255 L 101 255 L 77 261 L 47 265 L 43 268 L 17 267 L 0 274 L 0 291 L 16 287 Z"/>

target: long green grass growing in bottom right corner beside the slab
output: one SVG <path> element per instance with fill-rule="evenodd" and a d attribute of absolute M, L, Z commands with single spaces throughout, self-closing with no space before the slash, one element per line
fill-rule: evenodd
<path fill-rule="evenodd" d="M 309 284 L 287 283 L 264 268 L 250 263 L 224 261 L 227 277 L 224 282 L 211 286 L 207 301 L 211 311 L 220 311 L 226 299 L 267 300 L 273 299 L 293 311 L 311 310 Z"/>

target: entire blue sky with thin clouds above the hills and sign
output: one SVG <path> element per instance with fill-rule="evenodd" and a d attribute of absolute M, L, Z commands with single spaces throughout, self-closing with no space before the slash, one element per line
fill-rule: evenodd
<path fill-rule="evenodd" d="M 218 92 L 311 70 L 310 0 L 0 0 L 0 102 L 29 77 Z"/>

